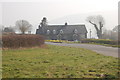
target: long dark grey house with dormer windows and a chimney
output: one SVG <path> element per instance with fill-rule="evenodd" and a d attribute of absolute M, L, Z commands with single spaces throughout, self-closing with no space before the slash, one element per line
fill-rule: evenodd
<path fill-rule="evenodd" d="M 45 36 L 48 40 L 78 40 L 87 38 L 85 25 L 43 25 L 38 26 L 36 34 Z"/>

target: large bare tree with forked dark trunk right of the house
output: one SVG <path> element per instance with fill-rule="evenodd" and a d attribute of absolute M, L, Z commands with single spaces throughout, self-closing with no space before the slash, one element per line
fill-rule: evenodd
<path fill-rule="evenodd" d="M 95 27 L 98 38 L 102 38 L 102 27 L 105 25 L 104 18 L 101 15 L 89 16 L 87 21 Z"/>

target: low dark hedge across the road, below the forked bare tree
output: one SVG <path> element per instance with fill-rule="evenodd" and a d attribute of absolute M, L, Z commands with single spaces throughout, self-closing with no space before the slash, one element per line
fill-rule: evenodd
<path fill-rule="evenodd" d="M 118 41 L 110 40 L 110 39 L 83 39 L 81 43 L 100 43 L 100 44 L 111 44 L 118 45 Z"/>

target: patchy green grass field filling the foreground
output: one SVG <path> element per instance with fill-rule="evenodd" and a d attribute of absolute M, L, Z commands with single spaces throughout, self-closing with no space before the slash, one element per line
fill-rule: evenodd
<path fill-rule="evenodd" d="M 82 48 L 48 45 L 2 55 L 3 78 L 117 78 L 119 70 L 117 58 Z"/>

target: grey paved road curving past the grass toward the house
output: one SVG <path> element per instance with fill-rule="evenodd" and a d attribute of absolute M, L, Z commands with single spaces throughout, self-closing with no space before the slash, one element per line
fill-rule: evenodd
<path fill-rule="evenodd" d="M 68 43 L 51 43 L 51 42 L 45 42 L 46 44 L 51 44 L 51 45 L 59 45 L 59 46 L 71 46 L 71 47 L 80 47 L 80 48 L 85 48 L 89 49 L 92 51 L 95 51 L 97 53 L 103 54 L 105 56 L 113 56 L 113 57 L 118 57 L 118 48 L 114 47 L 106 47 L 106 46 L 101 46 L 101 45 L 93 45 L 93 44 L 68 44 Z M 120 48 L 119 48 L 120 50 Z M 119 56 L 120 57 L 120 56 Z"/>

